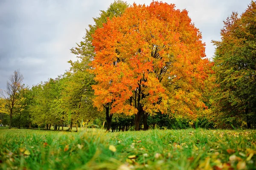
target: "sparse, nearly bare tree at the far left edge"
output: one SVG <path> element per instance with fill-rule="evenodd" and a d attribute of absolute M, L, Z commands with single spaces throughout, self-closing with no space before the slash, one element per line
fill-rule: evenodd
<path fill-rule="evenodd" d="M 2 107 L 0 108 L 3 113 L 10 115 L 9 129 L 12 127 L 12 117 L 15 112 L 21 108 L 22 97 L 20 91 L 23 89 L 23 76 L 19 70 L 15 70 L 14 73 L 9 77 L 9 81 L 6 83 L 6 90 L 0 91 L 3 98 Z"/>

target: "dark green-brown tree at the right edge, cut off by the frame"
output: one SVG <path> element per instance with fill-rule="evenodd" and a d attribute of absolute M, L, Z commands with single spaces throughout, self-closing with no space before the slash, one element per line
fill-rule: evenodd
<path fill-rule="evenodd" d="M 215 107 L 219 125 L 244 120 L 251 128 L 256 125 L 256 2 L 252 1 L 241 16 L 233 12 L 224 21 L 221 41 L 213 42 L 217 47 Z"/>

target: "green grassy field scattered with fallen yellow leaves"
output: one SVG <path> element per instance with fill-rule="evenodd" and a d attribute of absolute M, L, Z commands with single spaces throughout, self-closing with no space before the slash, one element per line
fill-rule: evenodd
<path fill-rule="evenodd" d="M 256 169 L 256 130 L 1 129 L 3 170 Z"/>

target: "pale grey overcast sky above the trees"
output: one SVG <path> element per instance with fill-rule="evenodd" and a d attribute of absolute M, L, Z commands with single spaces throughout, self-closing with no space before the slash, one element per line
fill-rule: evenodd
<path fill-rule="evenodd" d="M 0 0 L 0 88 L 16 69 L 32 86 L 69 70 L 75 60 L 70 48 L 80 42 L 85 28 L 107 10 L 113 0 Z M 150 4 L 151 0 L 127 0 Z M 232 11 L 245 11 L 250 0 L 163 0 L 189 11 L 199 28 L 211 58 L 211 40 L 220 39 L 220 29 Z"/>

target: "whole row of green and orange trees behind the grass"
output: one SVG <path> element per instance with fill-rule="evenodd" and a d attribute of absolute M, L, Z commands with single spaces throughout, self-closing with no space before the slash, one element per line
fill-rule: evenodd
<path fill-rule="evenodd" d="M 117 0 L 93 20 L 71 49 L 70 71 L 31 88 L 14 72 L 1 91 L 3 124 L 78 130 L 106 122 L 112 132 L 256 127 L 256 2 L 224 21 L 213 61 L 188 12 L 173 4 Z"/>

